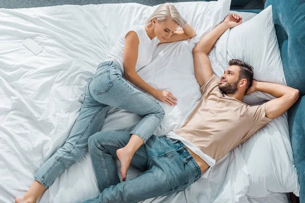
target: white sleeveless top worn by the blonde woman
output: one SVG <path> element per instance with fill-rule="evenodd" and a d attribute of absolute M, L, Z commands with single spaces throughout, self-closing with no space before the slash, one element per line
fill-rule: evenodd
<path fill-rule="evenodd" d="M 124 72 L 123 65 L 123 55 L 124 55 L 124 47 L 125 47 L 125 37 L 129 31 L 135 31 L 139 38 L 139 49 L 138 49 L 138 59 L 136 63 L 136 72 L 139 71 L 142 67 L 150 63 L 153 58 L 153 51 L 160 42 L 160 40 L 155 37 L 153 40 L 147 35 L 144 25 L 135 25 L 130 27 L 128 30 L 123 32 L 113 49 L 106 56 L 105 61 L 114 61 L 117 62 L 121 70 Z"/>

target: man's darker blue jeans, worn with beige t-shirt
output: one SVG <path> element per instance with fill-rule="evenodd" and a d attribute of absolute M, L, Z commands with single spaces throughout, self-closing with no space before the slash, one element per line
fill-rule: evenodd
<path fill-rule="evenodd" d="M 116 150 L 129 141 L 126 131 L 97 132 L 89 138 L 89 153 L 100 194 L 88 202 L 138 202 L 180 191 L 201 176 L 199 165 L 184 144 L 151 136 L 135 153 L 131 165 L 144 171 L 126 182 L 116 172 Z"/>

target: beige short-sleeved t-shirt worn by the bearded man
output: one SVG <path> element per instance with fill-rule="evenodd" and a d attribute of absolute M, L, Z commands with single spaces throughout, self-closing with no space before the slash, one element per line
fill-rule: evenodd
<path fill-rule="evenodd" d="M 219 82 L 213 75 L 202 85 L 199 104 L 182 127 L 173 130 L 216 161 L 272 120 L 265 116 L 266 103 L 242 103 L 223 94 Z"/>

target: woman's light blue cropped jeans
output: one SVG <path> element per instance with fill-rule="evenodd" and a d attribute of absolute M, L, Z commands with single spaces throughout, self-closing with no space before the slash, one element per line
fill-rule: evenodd
<path fill-rule="evenodd" d="M 39 168 L 34 178 L 48 188 L 60 174 L 80 160 L 88 151 L 88 138 L 101 129 L 110 106 L 143 116 L 130 133 L 137 134 L 144 142 L 165 115 L 155 100 L 123 79 L 117 63 L 100 63 L 96 75 L 85 88 L 82 107 L 66 143 Z"/>

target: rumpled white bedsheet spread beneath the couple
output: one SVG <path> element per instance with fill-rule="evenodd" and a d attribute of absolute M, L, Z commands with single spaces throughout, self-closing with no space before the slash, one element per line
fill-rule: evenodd
<path fill-rule="evenodd" d="M 185 14 L 188 9 L 199 8 L 197 13 L 188 14 L 189 21 L 203 15 L 200 6 L 204 2 L 186 4 L 189 7 L 176 5 Z M 153 11 L 138 4 L 0 9 L 0 202 L 13 202 L 22 195 L 39 166 L 65 142 L 87 81 L 120 35 L 116 30 L 143 24 Z M 43 46 L 38 56 L 22 46 L 27 37 Z M 145 81 L 170 90 L 178 98 L 176 107 L 164 106 L 167 115 L 177 117 L 176 122 L 164 119 L 156 131 L 159 135 L 180 126 L 199 101 L 191 54 L 194 43 L 188 40 L 159 46 L 155 59 L 139 71 Z M 183 60 L 174 57 L 181 53 Z M 164 73 L 167 80 L 161 77 Z M 130 130 L 139 119 L 112 108 L 101 130 Z M 128 179 L 138 173 L 131 168 Z M 185 191 L 143 202 L 271 202 L 264 200 L 269 197 L 248 199 L 249 184 L 247 165 L 235 148 L 208 171 L 207 179 L 199 179 Z M 86 154 L 55 180 L 39 202 L 79 202 L 97 194 L 92 163 Z M 287 198 L 278 199 L 287 202 Z"/>

